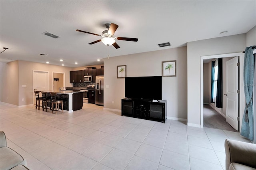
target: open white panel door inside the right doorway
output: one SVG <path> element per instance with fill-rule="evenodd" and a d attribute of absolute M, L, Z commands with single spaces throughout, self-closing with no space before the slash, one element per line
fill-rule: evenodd
<path fill-rule="evenodd" d="M 226 122 L 238 129 L 238 57 L 226 62 Z"/>

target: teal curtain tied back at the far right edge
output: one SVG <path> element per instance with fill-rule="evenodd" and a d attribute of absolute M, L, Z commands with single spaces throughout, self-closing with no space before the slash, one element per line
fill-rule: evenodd
<path fill-rule="evenodd" d="M 242 119 L 241 135 L 253 140 L 253 107 L 252 107 L 252 91 L 254 79 L 254 55 L 253 46 L 246 47 L 244 53 L 244 94 L 246 107 Z"/>

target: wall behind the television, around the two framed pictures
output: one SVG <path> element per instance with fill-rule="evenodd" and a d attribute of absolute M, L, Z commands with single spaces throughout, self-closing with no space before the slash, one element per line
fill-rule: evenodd
<path fill-rule="evenodd" d="M 160 76 L 162 61 L 177 60 L 177 76 L 163 77 L 162 99 L 167 100 L 167 116 L 170 119 L 187 119 L 186 53 L 186 47 L 178 47 L 104 58 L 104 107 L 121 109 L 121 99 L 125 97 L 125 79 L 117 78 L 118 65 L 126 65 L 127 77 Z M 154 82 L 148 86 L 154 90 Z"/>

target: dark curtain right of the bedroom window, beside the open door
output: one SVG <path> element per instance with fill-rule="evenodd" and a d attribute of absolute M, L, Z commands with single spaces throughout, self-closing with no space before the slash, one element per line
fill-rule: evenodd
<path fill-rule="evenodd" d="M 222 58 L 218 58 L 216 107 L 222 108 Z"/>

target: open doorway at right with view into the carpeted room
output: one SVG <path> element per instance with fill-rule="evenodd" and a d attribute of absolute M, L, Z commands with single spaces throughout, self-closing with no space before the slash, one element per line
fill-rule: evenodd
<path fill-rule="evenodd" d="M 219 59 L 204 60 L 204 127 L 237 132 L 238 121 L 238 57 L 221 58 L 223 64 L 218 76 Z M 220 78 L 220 80 L 219 80 Z M 220 81 L 221 87 L 218 87 Z M 217 89 L 222 90 L 222 107 L 217 107 Z M 224 94 L 226 93 L 226 94 Z M 220 97 L 218 97 L 218 103 Z"/>

